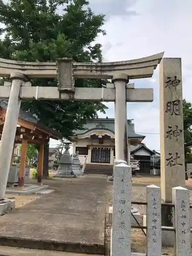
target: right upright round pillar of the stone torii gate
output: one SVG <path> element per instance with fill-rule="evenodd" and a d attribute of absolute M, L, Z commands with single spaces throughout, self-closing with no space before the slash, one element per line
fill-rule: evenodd
<path fill-rule="evenodd" d="M 129 163 L 126 116 L 126 84 L 129 77 L 117 74 L 113 76 L 112 82 L 115 84 L 115 158 Z"/>

